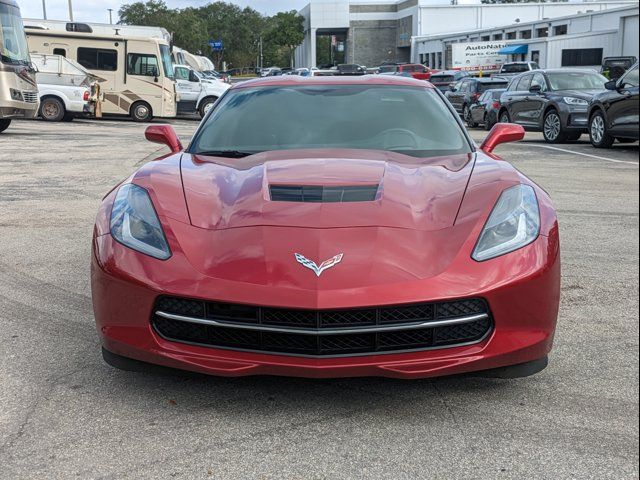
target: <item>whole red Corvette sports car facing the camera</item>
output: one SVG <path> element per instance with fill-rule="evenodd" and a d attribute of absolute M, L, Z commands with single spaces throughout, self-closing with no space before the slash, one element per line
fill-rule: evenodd
<path fill-rule="evenodd" d="M 235 85 L 109 193 L 92 290 L 106 361 L 212 375 L 518 377 L 558 313 L 549 196 L 444 96 L 394 76 Z"/>

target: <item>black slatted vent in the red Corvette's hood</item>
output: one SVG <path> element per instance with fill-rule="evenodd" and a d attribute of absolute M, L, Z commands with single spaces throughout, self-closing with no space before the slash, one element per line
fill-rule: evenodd
<path fill-rule="evenodd" d="M 373 202 L 379 185 L 331 186 L 270 185 L 273 202 L 342 203 Z"/>

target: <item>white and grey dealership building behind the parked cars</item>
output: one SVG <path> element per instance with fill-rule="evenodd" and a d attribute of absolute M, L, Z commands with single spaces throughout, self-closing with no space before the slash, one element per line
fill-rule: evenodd
<path fill-rule="evenodd" d="M 296 66 L 419 62 L 452 67 L 455 43 L 504 42 L 509 60 L 543 67 L 597 65 L 638 55 L 638 3 L 482 4 L 480 0 L 313 0 L 299 13 L 305 39 Z M 596 61 L 598 60 L 598 61 Z"/>

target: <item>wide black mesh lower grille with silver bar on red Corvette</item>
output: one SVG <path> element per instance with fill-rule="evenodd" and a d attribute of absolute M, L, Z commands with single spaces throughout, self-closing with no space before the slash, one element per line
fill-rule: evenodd
<path fill-rule="evenodd" d="M 482 340 L 493 326 L 482 299 L 300 310 L 163 296 L 151 322 L 171 341 L 306 356 L 453 347 Z"/>

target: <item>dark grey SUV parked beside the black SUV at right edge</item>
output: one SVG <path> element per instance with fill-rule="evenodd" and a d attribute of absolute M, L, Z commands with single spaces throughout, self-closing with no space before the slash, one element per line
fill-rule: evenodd
<path fill-rule="evenodd" d="M 542 131 L 549 143 L 578 140 L 587 133 L 589 102 L 605 89 L 605 83 L 605 77 L 588 69 L 521 74 L 500 98 L 500 121 Z"/>

